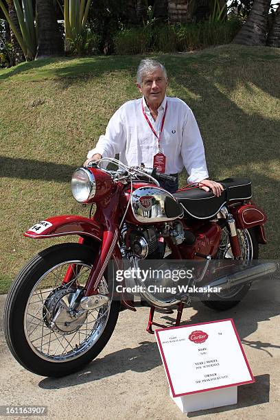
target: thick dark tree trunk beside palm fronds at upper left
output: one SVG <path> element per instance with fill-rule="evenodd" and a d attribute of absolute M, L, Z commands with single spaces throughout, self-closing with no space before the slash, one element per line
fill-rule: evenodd
<path fill-rule="evenodd" d="M 53 0 L 36 0 L 38 24 L 38 58 L 61 56 L 62 38 L 59 32 L 56 10 Z"/>

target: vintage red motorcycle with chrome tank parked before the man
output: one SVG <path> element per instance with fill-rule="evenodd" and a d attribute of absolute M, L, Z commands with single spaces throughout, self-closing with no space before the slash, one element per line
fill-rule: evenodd
<path fill-rule="evenodd" d="M 119 169 L 104 170 L 103 161 L 118 163 Z M 5 337 L 26 369 L 51 377 L 78 371 L 102 351 L 120 308 L 136 311 L 127 288 L 117 292 L 110 264 L 122 270 L 124 260 L 133 267 L 145 260 L 200 261 L 203 269 L 195 281 L 205 278 L 207 285 L 220 287 L 204 301 L 215 310 L 233 307 L 255 278 L 276 270 L 271 263 L 215 280 L 209 276 L 209 261 L 251 261 L 258 257 L 259 244 L 266 244 L 266 215 L 251 201 L 250 180 L 220 181 L 220 197 L 196 186 L 170 194 L 160 187 L 162 180 L 173 177 L 144 165 L 126 167 L 115 159 L 80 167 L 71 180 L 72 193 L 80 203 L 96 204 L 93 217 L 55 216 L 25 232 L 34 239 L 80 236 L 78 243 L 38 253 L 12 284 L 5 305 Z M 156 278 L 159 286 L 166 281 Z M 131 282 L 143 286 L 138 277 Z M 150 305 L 150 333 L 156 308 L 176 307 L 178 325 L 184 305 L 191 301 L 188 292 L 166 296 L 145 287 L 139 295 Z"/>

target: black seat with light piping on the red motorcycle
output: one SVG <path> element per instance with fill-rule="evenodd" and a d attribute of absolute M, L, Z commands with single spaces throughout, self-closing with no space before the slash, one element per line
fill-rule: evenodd
<path fill-rule="evenodd" d="M 251 183 L 248 178 L 226 178 L 217 181 L 224 191 L 216 197 L 212 191 L 203 189 L 187 189 L 172 194 L 188 215 L 196 219 L 209 219 L 220 211 L 221 207 L 232 200 L 248 200 L 251 198 Z"/>

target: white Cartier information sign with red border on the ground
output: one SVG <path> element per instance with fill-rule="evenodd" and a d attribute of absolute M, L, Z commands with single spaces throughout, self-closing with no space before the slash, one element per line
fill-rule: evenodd
<path fill-rule="evenodd" d="M 255 382 L 232 319 L 157 329 L 156 340 L 173 397 Z"/>

